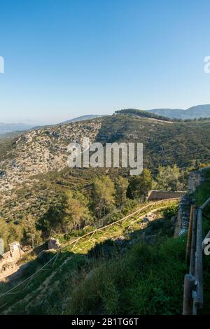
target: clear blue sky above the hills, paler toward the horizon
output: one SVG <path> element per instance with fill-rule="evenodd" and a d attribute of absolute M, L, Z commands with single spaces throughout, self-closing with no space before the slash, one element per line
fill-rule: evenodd
<path fill-rule="evenodd" d="M 209 0 L 0 0 L 0 122 L 210 103 Z"/>

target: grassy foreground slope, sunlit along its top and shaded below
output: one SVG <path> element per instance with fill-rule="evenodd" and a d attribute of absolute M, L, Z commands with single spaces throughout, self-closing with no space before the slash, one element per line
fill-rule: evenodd
<path fill-rule="evenodd" d="M 176 203 L 148 206 L 151 223 L 142 222 L 144 209 L 31 261 L 18 280 L 1 284 L 1 314 L 179 314 L 186 267 L 185 239 L 172 238 Z"/>

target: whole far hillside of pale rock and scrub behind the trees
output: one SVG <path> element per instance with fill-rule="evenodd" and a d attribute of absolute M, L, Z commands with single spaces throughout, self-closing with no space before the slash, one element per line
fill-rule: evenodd
<path fill-rule="evenodd" d="M 0 139 L 0 218 L 19 223 L 29 211 L 40 217 L 55 202 L 59 190 L 66 188 L 88 193 L 92 178 L 101 171 L 66 168 L 68 144 L 84 136 L 102 143 L 143 143 L 144 167 L 153 174 L 159 165 L 176 163 L 186 168 L 196 159 L 210 159 L 210 120 L 174 123 L 118 114 L 41 127 Z"/>

